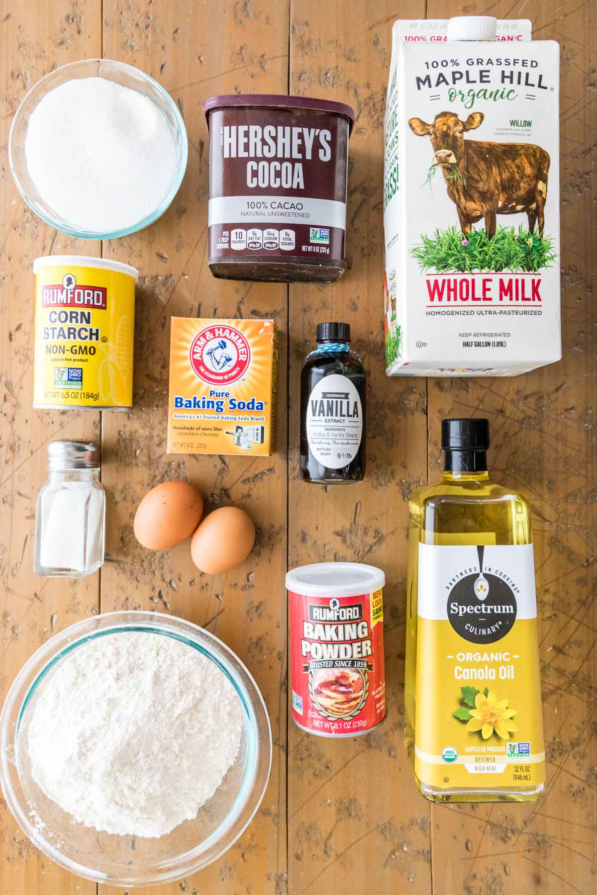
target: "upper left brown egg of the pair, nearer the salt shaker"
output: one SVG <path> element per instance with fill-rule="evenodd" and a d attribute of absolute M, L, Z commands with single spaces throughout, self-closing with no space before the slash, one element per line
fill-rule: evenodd
<path fill-rule="evenodd" d="M 149 550 L 166 550 L 190 537 L 203 516 L 203 498 L 189 482 L 162 482 L 141 500 L 132 525 Z"/>

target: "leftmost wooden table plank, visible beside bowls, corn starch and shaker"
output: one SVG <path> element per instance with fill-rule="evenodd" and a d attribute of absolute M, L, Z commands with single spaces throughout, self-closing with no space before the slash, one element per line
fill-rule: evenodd
<path fill-rule="evenodd" d="M 8 132 L 21 98 L 44 74 L 75 59 L 100 55 L 99 0 L 0 2 L 0 686 L 2 698 L 30 654 L 60 628 L 98 611 L 99 577 L 81 582 L 33 575 L 38 490 L 47 481 L 47 442 L 99 438 L 99 413 L 31 409 L 33 396 L 33 259 L 76 252 L 96 255 L 98 243 L 58 234 L 21 200 L 8 168 Z M 91 895 L 93 883 L 43 857 L 0 805 L 2 895 Z"/>

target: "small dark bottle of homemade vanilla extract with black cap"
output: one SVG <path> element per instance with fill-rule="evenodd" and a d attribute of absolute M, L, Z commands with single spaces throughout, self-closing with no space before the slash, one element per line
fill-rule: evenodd
<path fill-rule="evenodd" d="M 301 478 L 362 482 L 365 474 L 365 371 L 347 323 L 320 323 L 317 348 L 301 374 Z"/>

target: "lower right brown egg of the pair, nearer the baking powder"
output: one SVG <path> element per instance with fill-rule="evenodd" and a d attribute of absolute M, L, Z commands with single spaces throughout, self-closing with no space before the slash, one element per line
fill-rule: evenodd
<path fill-rule="evenodd" d="M 209 575 L 240 566 L 252 551 L 255 526 L 243 509 L 219 507 L 209 513 L 192 536 L 191 556 Z"/>

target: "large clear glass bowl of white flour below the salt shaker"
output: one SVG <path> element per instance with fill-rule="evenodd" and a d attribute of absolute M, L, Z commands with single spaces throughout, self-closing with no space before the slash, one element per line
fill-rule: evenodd
<path fill-rule="evenodd" d="M 243 663 L 155 612 L 67 627 L 0 716 L 7 805 L 47 857 L 95 882 L 173 882 L 215 860 L 260 805 L 271 732 Z"/>

